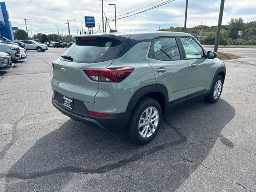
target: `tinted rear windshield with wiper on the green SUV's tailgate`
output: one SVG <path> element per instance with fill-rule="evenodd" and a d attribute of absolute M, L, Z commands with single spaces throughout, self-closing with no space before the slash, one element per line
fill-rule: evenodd
<path fill-rule="evenodd" d="M 123 42 L 107 37 L 81 37 L 64 52 L 73 62 L 96 63 L 116 58 Z"/>

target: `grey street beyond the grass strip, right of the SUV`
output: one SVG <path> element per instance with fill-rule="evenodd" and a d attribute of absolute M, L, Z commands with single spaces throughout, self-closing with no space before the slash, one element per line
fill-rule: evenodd
<path fill-rule="evenodd" d="M 214 48 L 206 47 L 206 50 L 213 51 Z M 254 57 L 256 58 L 255 48 L 218 48 L 218 52 L 230 53 L 242 57 Z"/>

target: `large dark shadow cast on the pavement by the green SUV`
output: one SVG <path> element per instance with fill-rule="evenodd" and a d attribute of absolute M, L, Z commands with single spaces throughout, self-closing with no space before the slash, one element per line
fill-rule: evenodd
<path fill-rule="evenodd" d="M 104 187 L 106 191 L 107 186 L 104 185 L 108 185 L 109 188 L 117 187 L 118 183 L 121 186 L 127 186 L 131 184 L 129 182 L 132 182 L 133 188 L 137 191 L 146 191 L 147 184 L 165 186 L 168 191 L 174 191 L 200 165 L 188 166 L 185 163 L 182 164 L 183 160 L 189 159 L 189 154 L 192 154 L 191 159 L 196 157 L 199 162 L 202 162 L 216 140 L 196 146 L 193 146 L 193 143 L 197 144 L 198 142 L 199 144 L 200 141 L 207 138 L 221 138 L 221 142 L 228 147 L 234 146 L 221 134 L 222 129 L 234 115 L 234 108 L 225 100 L 220 99 L 215 104 L 207 104 L 202 99 L 195 100 L 174 112 L 165 114 L 158 135 L 152 142 L 144 146 L 130 143 L 124 134 L 95 130 L 81 122 L 68 120 L 60 128 L 40 138 L 12 166 L 6 178 L 6 191 L 15 192 L 27 185 L 35 186 L 38 191 L 44 187 L 50 191 L 60 190 L 71 182 L 70 174 L 76 174 L 75 178 L 78 175 L 86 177 L 88 174 L 99 174 L 97 179 L 105 180 L 108 174 L 113 176 L 113 171 L 120 168 L 126 169 L 130 173 L 134 172 L 134 179 L 138 179 L 140 182 L 135 182 L 132 180 L 133 178 L 125 180 L 117 177 L 105 184 L 94 184 L 94 182 L 97 183 L 95 179 L 89 179 L 89 183 L 95 191 L 104 191 Z M 185 148 L 188 150 L 188 156 L 185 156 Z M 180 166 L 168 162 L 168 158 L 174 158 L 174 154 L 176 156 L 178 154 L 181 159 Z M 150 166 L 147 168 L 145 164 L 143 164 L 144 170 L 141 170 L 142 166 L 136 167 L 136 164 L 139 164 L 142 159 L 145 162 L 144 158 L 150 161 L 151 158 L 147 158 L 148 156 L 152 157 L 154 161 L 164 161 L 166 155 L 166 163 L 169 164 L 167 167 Z M 134 168 L 129 170 L 133 165 Z M 148 178 L 146 177 L 147 172 L 150 172 L 149 175 L 151 175 Z M 105 174 L 104 178 L 100 178 L 102 173 Z M 136 174 L 138 178 L 136 178 Z M 29 180 L 31 182 L 28 182 Z M 144 184 L 142 185 L 141 182 Z M 80 185 L 84 184 L 80 183 Z M 117 191 L 124 190 L 124 188 L 118 190 L 118 187 L 115 189 Z M 158 191 L 162 191 L 161 188 Z"/>

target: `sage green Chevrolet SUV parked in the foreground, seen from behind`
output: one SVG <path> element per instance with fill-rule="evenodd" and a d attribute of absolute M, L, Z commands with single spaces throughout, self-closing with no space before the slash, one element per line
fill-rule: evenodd
<path fill-rule="evenodd" d="M 70 118 L 150 142 L 167 108 L 220 98 L 226 74 L 216 53 L 180 32 L 100 33 L 52 62 L 52 104 Z"/>

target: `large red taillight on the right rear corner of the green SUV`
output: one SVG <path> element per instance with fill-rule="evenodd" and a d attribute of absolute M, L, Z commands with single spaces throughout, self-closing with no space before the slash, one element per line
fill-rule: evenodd
<path fill-rule="evenodd" d="M 121 82 L 128 77 L 133 70 L 133 67 L 91 68 L 84 69 L 84 72 L 93 81 Z"/>

